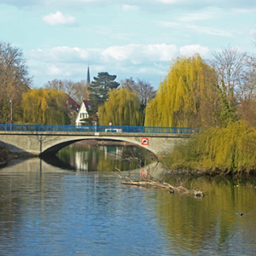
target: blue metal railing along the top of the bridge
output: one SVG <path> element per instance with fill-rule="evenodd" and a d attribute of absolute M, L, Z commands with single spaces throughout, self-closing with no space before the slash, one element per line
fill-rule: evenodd
<path fill-rule="evenodd" d="M 114 125 L 0 125 L 0 131 L 72 131 L 191 134 L 190 127 L 114 126 Z"/>

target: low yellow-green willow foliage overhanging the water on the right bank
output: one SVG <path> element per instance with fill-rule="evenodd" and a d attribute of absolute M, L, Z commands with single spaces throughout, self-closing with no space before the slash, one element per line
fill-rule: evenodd
<path fill-rule="evenodd" d="M 166 164 L 172 168 L 212 172 L 254 172 L 256 130 L 242 121 L 208 128 L 193 135 L 189 143 L 177 145 L 166 156 Z"/>

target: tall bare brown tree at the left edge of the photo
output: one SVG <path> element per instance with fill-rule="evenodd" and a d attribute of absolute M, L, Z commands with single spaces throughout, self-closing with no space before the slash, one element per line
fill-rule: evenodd
<path fill-rule="evenodd" d="M 29 90 L 32 78 L 28 76 L 26 59 L 21 49 L 9 43 L 0 43 L 0 122 L 9 122 L 7 103 L 12 98 L 14 119 L 22 93 Z"/>

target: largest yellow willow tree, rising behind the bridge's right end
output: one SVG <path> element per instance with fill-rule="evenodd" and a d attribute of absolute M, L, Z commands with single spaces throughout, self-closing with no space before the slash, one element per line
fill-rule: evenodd
<path fill-rule="evenodd" d="M 148 103 L 145 125 L 214 125 L 219 101 L 216 84 L 216 73 L 200 55 L 177 58 Z"/>

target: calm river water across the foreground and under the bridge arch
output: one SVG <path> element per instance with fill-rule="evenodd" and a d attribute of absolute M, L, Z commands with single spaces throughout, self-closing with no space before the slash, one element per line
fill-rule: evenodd
<path fill-rule="evenodd" d="M 203 198 L 123 185 L 113 170 L 139 178 L 137 151 L 79 145 L 1 169 L 0 255 L 256 255 L 255 177 L 166 177 Z"/>

